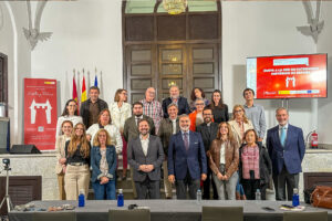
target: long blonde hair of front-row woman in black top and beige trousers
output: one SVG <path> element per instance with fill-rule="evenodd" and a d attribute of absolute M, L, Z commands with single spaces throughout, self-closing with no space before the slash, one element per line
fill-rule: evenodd
<path fill-rule="evenodd" d="M 83 135 L 81 137 L 77 137 L 76 133 L 75 133 L 79 125 L 81 125 L 83 127 Z M 77 143 L 81 145 L 81 148 L 80 148 L 81 156 L 83 158 L 87 158 L 90 156 L 90 144 L 86 139 L 85 126 L 82 123 L 77 123 L 74 126 L 74 129 L 72 131 L 71 140 L 68 146 L 68 156 L 69 157 L 72 157 L 74 155 L 74 152 L 77 150 L 77 145 L 76 145 Z"/>

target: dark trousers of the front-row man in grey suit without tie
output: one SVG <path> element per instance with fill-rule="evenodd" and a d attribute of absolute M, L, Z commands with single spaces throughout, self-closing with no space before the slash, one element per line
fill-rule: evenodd
<path fill-rule="evenodd" d="M 142 182 L 135 181 L 137 199 L 160 199 L 160 181 L 151 180 L 148 176 Z"/>

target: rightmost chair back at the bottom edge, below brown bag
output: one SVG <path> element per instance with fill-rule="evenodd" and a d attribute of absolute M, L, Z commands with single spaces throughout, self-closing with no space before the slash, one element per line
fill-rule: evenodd
<path fill-rule="evenodd" d="M 284 212 L 283 221 L 328 221 L 328 211 L 321 212 Z"/>

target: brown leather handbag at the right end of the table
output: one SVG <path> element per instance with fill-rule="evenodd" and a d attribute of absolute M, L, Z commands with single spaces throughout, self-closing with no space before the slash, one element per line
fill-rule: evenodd
<path fill-rule="evenodd" d="M 332 209 L 332 187 L 317 186 L 311 194 L 313 207 Z"/>

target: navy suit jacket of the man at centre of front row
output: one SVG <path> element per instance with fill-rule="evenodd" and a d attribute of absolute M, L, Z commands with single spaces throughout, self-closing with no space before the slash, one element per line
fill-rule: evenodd
<path fill-rule="evenodd" d="M 168 147 L 168 175 L 178 180 L 185 179 L 187 170 L 191 179 L 200 179 L 207 173 L 207 161 L 204 143 L 199 133 L 189 131 L 189 149 L 186 151 L 181 131 L 170 137 Z"/>

